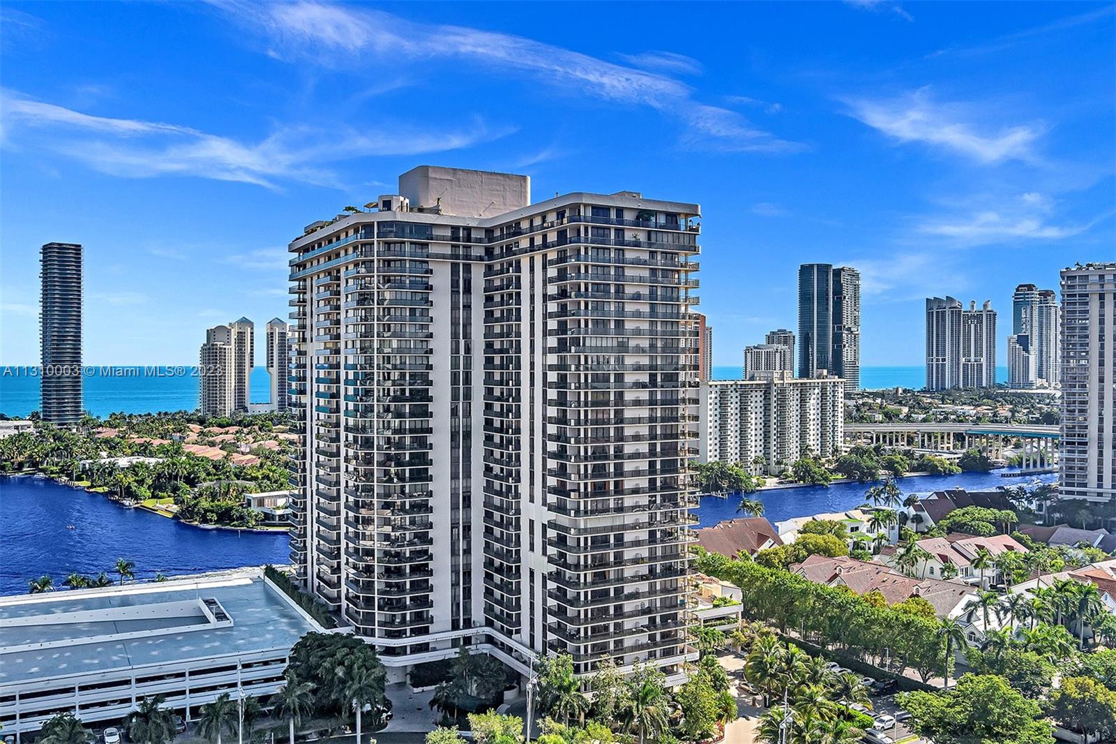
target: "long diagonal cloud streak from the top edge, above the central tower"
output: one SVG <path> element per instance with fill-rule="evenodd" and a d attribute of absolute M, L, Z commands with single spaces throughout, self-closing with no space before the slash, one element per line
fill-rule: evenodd
<path fill-rule="evenodd" d="M 392 65 L 449 60 L 508 76 L 530 75 L 581 96 L 646 106 L 683 126 L 681 142 L 721 152 L 788 152 L 801 149 L 752 126 L 741 114 L 702 104 L 679 71 L 689 58 L 655 55 L 658 71 L 618 65 L 521 36 L 463 26 L 416 23 L 391 13 L 350 4 L 301 2 L 257 4 L 211 0 L 246 29 L 266 35 L 268 53 L 289 61 L 310 59 L 329 68 L 376 69 Z M 644 63 L 652 59 L 646 57 Z M 674 69 L 664 69 L 664 63 Z M 691 60 L 692 63 L 692 60 Z M 692 64 L 690 64 L 692 68 Z"/>

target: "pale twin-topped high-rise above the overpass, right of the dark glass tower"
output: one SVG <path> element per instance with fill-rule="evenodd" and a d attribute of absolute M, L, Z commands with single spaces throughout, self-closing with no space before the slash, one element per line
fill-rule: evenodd
<path fill-rule="evenodd" d="M 964 309 L 953 297 L 926 298 L 926 389 L 995 384 L 995 311 Z"/>

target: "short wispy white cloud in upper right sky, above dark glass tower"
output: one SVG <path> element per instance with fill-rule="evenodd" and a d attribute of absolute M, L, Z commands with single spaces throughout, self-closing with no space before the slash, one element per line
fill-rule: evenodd
<path fill-rule="evenodd" d="M 1001 126 L 982 133 L 965 121 L 970 107 L 936 103 L 922 88 L 898 98 L 846 101 L 849 115 L 899 142 L 921 142 L 965 155 L 981 164 L 1007 160 L 1036 161 L 1033 146 L 1045 133 L 1041 123 Z"/>

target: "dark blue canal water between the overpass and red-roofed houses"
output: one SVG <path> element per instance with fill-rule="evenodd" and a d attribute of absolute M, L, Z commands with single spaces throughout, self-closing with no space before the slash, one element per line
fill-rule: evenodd
<path fill-rule="evenodd" d="M 999 486 L 1031 484 L 1036 478 L 1042 483 L 1055 483 L 1058 479 L 1057 474 L 1054 473 L 1022 478 L 1003 478 L 1000 476 L 1000 473 L 1003 471 L 1007 470 L 961 473 L 952 476 L 910 476 L 899 478 L 897 483 L 903 489 L 903 495 L 906 496 L 908 494 L 929 494 L 943 488 L 992 490 Z M 775 524 L 799 516 L 856 508 L 865 503 L 864 494 L 872 485 L 870 483 L 839 483 L 831 486 L 768 488 L 749 494 L 748 497 L 763 502 L 763 516 Z M 741 516 L 737 513 L 739 504 L 739 495 L 728 498 L 702 496 L 701 506 L 694 511 L 694 514 L 701 519 L 698 526 L 710 527 L 718 522 Z"/>

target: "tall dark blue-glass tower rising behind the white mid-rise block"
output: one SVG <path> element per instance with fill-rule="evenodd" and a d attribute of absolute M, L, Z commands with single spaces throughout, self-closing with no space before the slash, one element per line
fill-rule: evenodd
<path fill-rule="evenodd" d="M 798 375 L 826 371 L 860 387 L 860 274 L 830 264 L 798 268 Z"/>

